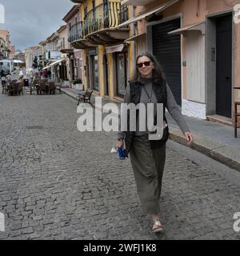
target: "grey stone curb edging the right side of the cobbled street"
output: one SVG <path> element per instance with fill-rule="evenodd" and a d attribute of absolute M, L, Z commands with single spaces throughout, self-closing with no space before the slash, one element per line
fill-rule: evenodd
<path fill-rule="evenodd" d="M 77 95 L 62 90 L 62 92 L 71 98 L 77 100 Z M 92 106 L 95 107 L 94 103 Z M 170 126 L 170 140 L 178 142 L 182 146 L 186 145 L 186 139 L 184 138 L 182 131 L 178 126 L 169 124 Z M 234 170 L 240 171 L 240 152 L 234 147 L 227 146 L 220 142 L 211 140 L 210 138 L 204 137 L 202 134 L 194 133 L 194 142 L 190 147 L 192 150 L 196 150 L 206 156 L 213 158 L 214 160 L 221 162 L 222 164 L 233 168 Z"/>

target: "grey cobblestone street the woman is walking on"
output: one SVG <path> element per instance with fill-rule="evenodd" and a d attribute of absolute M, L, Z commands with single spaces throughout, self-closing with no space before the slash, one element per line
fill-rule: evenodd
<path fill-rule="evenodd" d="M 151 232 L 116 133 L 80 133 L 66 95 L 0 94 L 0 239 L 239 239 L 240 174 L 168 142 L 165 234 Z"/>

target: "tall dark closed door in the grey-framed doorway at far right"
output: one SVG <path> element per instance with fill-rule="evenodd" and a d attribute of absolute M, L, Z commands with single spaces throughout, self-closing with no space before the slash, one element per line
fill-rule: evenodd
<path fill-rule="evenodd" d="M 216 113 L 232 117 L 232 16 L 216 19 Z"/>

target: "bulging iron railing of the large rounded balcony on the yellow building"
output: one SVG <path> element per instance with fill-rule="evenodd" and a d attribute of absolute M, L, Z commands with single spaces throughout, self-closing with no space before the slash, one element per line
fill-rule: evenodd
<path fill-rule="evenodd" d="M 84 18 L 84 34 L 96 32 L 106 28 L 114 28 L 128 20 L 127 6 L 120 2 L 103 1 L 99 6 L 90 10 Z"/>

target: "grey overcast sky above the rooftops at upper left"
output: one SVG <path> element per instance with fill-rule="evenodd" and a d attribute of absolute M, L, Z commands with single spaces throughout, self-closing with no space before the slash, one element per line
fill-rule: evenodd
<path fill-rule="evenodd" d="M 65 22 L 62 18 L 74 5 L 70 0 L 0 0 L 5 6 L 5 24 L 11 45 L 24 50 L 37 46 Z"/>

